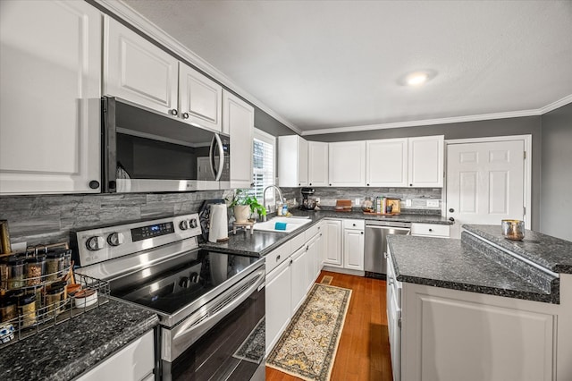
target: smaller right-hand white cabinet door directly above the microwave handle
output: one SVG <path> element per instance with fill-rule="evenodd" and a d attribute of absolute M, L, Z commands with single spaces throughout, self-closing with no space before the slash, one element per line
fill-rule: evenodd
<path fill-rule="evenodd" d="M 179 63 L 179 112 L 186 123 L 223 131 L 223 87 Z"/>

